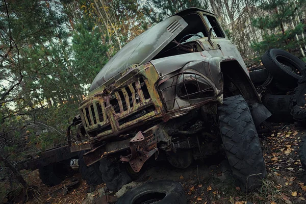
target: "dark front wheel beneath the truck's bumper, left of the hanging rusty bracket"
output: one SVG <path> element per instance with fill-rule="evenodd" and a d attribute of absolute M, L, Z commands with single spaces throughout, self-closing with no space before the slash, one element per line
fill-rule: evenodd
<path fill-rule="evenodd" d="M 110 191 L 118 191 L 124 184 L 132 182 L 132 176 L 124 165 L 110 158 L 100 160 L 100 173 Z"/>

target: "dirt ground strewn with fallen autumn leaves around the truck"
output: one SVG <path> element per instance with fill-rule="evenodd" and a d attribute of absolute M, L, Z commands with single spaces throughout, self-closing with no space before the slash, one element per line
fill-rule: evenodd
<path fill-rule="evenodd" d="M 260 136 L 268 176 L 262 188 L 251 193 L 239 189 L 226 159 L 222 157 L 196 161 L 187 169 L 175 169 L 166 162 L 159 162 L 158 166 L 147 170 L 139 182 L 162 179 L 180 182 L 185 189 L 187 203 L 306 203 L 306 174 L 298 158 L 298 143 L 306 136 L 306 130 L 293 124 L 281 127 L 282 130 Z M 71 189 L 66 195 L 62 191 L 52 193 L 71 183 L 72 179 L 80 179 L 80 174 L 49 188 L 40 182 L 38 172 L 34 171 L 28 181 L 39 187 L 39 195 L 27 203 L 82 203 L 89 195 L 99 197 L 98 189 L 105 187 L 101 184 L 88 193 L 89 186 L 80 180 L 79 187 Z"/>

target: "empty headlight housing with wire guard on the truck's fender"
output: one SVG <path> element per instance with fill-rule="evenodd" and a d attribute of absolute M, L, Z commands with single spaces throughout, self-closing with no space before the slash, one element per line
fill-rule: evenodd
<path fill-rule="evenodd" d="M 193 106 L 216 95 L 211 81 L 193 70 L 160 81 L 158 89 L 168 111 Z"/>

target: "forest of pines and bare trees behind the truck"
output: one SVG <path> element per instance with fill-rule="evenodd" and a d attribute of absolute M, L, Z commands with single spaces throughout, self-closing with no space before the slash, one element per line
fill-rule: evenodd
<path fill-rule="evenodd" d="M 189 7 L 214 13 L 248 66 L 275 47 L 306 60 L 306 0 L 1 0 L 0 192 L 20 185 L 8 165 L 66 143 L 95 75 L 124 44 Z"/>

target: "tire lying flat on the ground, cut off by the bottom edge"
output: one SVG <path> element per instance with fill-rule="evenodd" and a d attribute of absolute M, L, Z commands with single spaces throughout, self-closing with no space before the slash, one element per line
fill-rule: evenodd
<path fill-rule="evenodd" d="M 116 204 L 186 204 L 186 196 L 180 183 L 161 180 L 133 188 L 121 196 Z"/>

